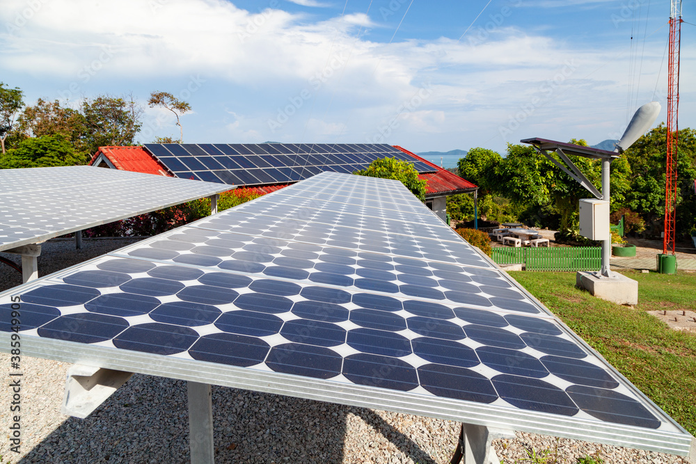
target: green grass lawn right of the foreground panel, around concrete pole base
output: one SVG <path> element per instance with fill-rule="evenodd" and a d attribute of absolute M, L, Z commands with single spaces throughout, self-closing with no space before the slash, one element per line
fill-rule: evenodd
<path fill-rule="evenodd" d="M 638 280 L 638 305 L 616 305 L 575 287 L 576 273 L 510 272 L 652 401 L 696 435 L 696 334 L 647 311 L 696 311 L 696 274 L 622 271 Z"/>

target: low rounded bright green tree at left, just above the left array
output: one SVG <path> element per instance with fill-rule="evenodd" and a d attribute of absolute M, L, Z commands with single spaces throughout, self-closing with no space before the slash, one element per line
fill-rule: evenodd
<path fill-rule="evenodd" d="M 25 138 L 0 157 L 0 168 L 43 168 L 75 166 L 82 158 L 61 134 Z"/>

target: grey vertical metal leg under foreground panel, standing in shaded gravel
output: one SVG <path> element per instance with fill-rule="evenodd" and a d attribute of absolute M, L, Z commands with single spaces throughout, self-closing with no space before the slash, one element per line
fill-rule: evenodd
<path fill-rule="evenodd" d="M 215 449 L 210 385 L 189 381 L 188 390 L 191 464 L 212 464 L 215 461 Z"/>

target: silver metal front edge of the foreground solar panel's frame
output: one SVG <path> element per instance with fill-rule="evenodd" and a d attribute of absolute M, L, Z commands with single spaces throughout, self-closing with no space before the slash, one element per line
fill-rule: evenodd
<path fill-rule="evenodd" d="M 10 334 L 0 333 L 0 346 L 10 346 Z M 667 432 L 608 422 L 535 413 L 490 404 L 457 401 L 375 387 L 349 385 L 317 378 L 223 366 L 212 362 L 124 351 L 41 337 L 22 337 L 22 352 L 35 358 L 76 362 L 106 369 L 176 378 L 196 383 L 235 387 L 290 397 L 389 410 L 437 419 L 512 429 L 574 440 L 585 440 L 686 456 L 692 437 L 669 417 L 661 417 L 683 431 Z M 118 358 L 113 354 L 118 351 Z M 659 414 L 659 411 L 653 411 Z"/>

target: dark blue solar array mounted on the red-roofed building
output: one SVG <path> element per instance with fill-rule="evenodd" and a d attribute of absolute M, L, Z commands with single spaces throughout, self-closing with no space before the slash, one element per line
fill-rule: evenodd
<path fill-rule="evenodd" d="M 324 171 L 350 174 L 384 157 L 409 161 L 419 173 L 436 171 L 386 143 L 150 143 L 144 147 L 177 177 L 233 185 L 288 184 Z"/>

